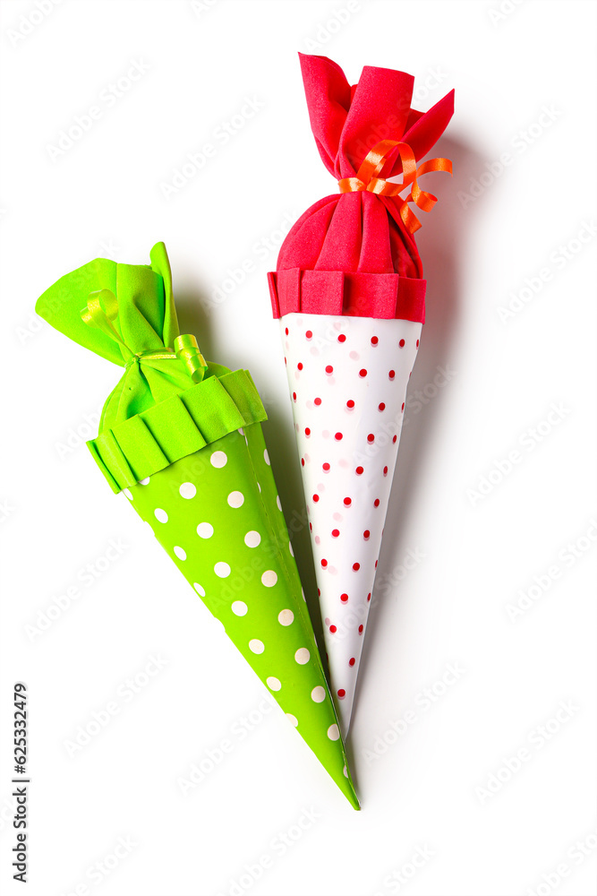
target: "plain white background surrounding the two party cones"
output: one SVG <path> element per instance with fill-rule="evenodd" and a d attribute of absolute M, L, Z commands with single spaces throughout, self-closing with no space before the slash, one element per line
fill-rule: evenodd
<path fill-rule="evenodd" d="M 93 896 L 595 892 L 595 239 L 584 228 L 595 224 L 595 7 L 524 0 L 496 15 L 499 2 L 360 0 L 346 14 L 347 0 L 63 0 L 44 16 L 30 0 L 2 3 L 7 896 L 25 892 L 10 869 L 15 680 L 30 692 L 30 896 L 82 885 Z M 439 205 L 418 240 L 428 319 L 411 394 L 432 397 L 407 416 L 350 737 L 360 814 L 82 445 L 118 371 L 32 315 L 65 272 L 98 255 L 147 263 L 163 239 L 182 330 L 207 357 L 252 370 L 286 517 L 300 518 L 266 272 L 276 231 L 336 185 L 312 139 L 297 50 L 332 56 L 350 82 L 362 65 L 413 73 L 422 109 L 456 88 L 432 153 L 453 159 L 455 177 L 429 176 Z M 107 99 L 135 62 L 149 68 Z M 262 108 L 166 199 L 161 185 L 245 97 Z M 90 130 L 51 159 L 94 105 Z M 253 270 L 214 303 L 243 262 Z M 513 294 L 519 310 L 503 320 Z M 559 419 L 546 422 L 554 404 Z M 309 587 L 307 534 L 294 544 Z M 110 539 L 123 554 L 86 587 L 81 568 Z M 404 574 L 409 552 L 424 556 Z M 559 578 L 509 616 L 554 566 Z M 27 626 L 77 583 L 81 596 L 32 637 Z M 157 654 L 165 668 L 71 757 L 65 742 Z M 464 671 L 446 687 L 448 664 Z M 444 692 L 427 710 L 425 687 Z M 562 701 L 566 719 L 549 723 Z M 409 710 L 397 737 L 391 723 Z M 246 737 L 231 734 L 250 714 Z M 177 779 L 226 737 L 232 753 L 183 797 Z M 527 760 L 508 772 L 520 750 Z M 282 854 L 289 829 L 301 836 Z M 135 845 L 94 883 L 88 869 L 112 864 L 119 837 Z"/>

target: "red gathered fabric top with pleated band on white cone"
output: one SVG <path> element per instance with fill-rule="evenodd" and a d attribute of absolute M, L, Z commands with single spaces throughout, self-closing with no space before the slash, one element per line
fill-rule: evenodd
<path fill-rule="evenodd" d="M 429 112 L 411 108 L 414 78 L 366 65 L 358 84 L 327 56 L 299 54 L 311 130 L 337 181 L 356 177 L 382 140 L 407 143 L 419 161 L 454 112 L 454 90 Z M 388 155 L 379 177 L 402 172 Z M 326 196 L 288 233 L 269 274 L 274 316 L 293 311 L 424 320 L 425 281 L 414 237 L 400 215 L 404 197 L 371 192 Z"/>

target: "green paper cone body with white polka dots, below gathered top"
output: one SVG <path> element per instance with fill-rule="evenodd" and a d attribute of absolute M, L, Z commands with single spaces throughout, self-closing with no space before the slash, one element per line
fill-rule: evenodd
<path fill-rule="evenodd" d="M 127 497 L 359 808 L 260 424 L 176 461 Z"/>

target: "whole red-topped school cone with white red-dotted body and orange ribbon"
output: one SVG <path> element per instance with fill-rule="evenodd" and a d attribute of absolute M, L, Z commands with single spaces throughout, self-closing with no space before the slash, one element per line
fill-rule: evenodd
<path fill-rule="evenodd" d="M 310 519 L 332 694 L 343 734 L 411 375 L 425 280 L 414 243 L 436 198 L 418 177 L 451 172 L 417 160 L 454 111 L 454 93 L 421 113 L 414 78 L 366 66 L 351 87 L 325 56 L 300 55 L 311 129 L 340 193 L 296 221 L 269 274 Z M 402 175 L 400 183 L 390 181 Z M 400 194 L 408 190 L 405 197 Z"/>

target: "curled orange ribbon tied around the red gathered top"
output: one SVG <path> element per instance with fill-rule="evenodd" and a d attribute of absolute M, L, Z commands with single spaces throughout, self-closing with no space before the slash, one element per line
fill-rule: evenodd
<path fill-rule="evenodd" d="M 402 184 L 392 184 L 388 180 L 378 177 L 381 169 L 388 160 L 389 154 L 397 149 L 402 162 Z M 417 177 L 427 174 L 429 171 L 448 171 L 452 174 L 452 162 L 450 159 L 429 159 L 417 168 L 414 152 L 408 143 L 397 140 L 381 140 L 376 143 L 362 161 L 361 168 L 356 172 L 356 177 L 343 177 L 338 181 L 340 193 L 374 193 L 378 196 L 397 196 L 406 186 L 411 185 L 411 191 L 400 206 L 400 217 L 405 222 L 409 233 L 414 233 L 421 227 L 421 221 L 408 207 L 409 202 L 414 202 L 422 211 L 431 211 L 438 201 L 437 196 L 426 193 L 417 183 Z"/>

